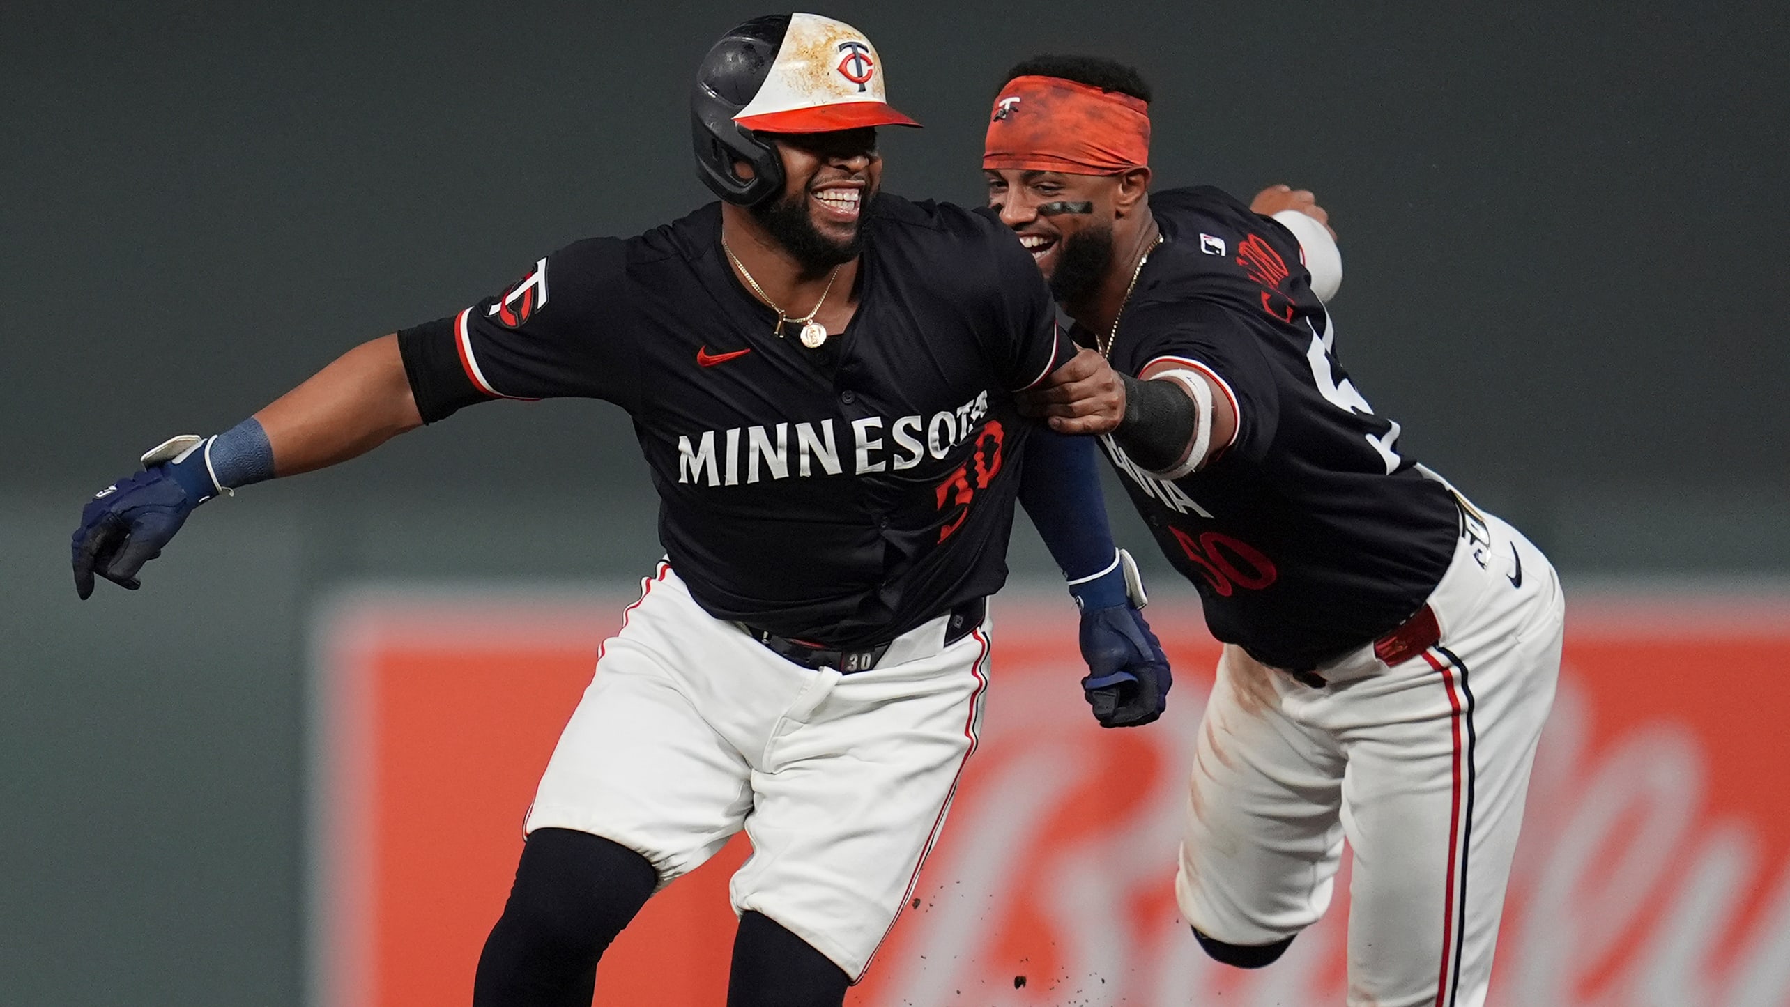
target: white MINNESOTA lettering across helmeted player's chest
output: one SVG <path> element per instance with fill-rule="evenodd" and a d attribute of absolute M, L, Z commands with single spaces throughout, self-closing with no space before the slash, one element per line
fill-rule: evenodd
<path fill-rule="evenodd" d="M 863 417 L 843 424 L 848 431 L 825 419 L 709 429 L 695 438 L 678 435 L 677 481 L 737 487 L 791 476 L 840 476 L 845 472 L 841 458 L 850 458 L 854 476 L 902 472 L 916 467 L 927 454 L 942 461 L 976 435 L 976 424 L 986 415 L 988 392 L 981 392 L 956 410 L 893 422 L 888 417 Z M 841 436 L 850 438 L 848 456 L 840 451 Z"/>

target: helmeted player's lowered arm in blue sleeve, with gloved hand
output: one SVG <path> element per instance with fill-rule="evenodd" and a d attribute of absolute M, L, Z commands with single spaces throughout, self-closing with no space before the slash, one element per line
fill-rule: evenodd
<path fill-rule="evenodd" d="M 1138 612 L 1144 581 L 1113 547 L 1094 442 L 1035 429 L 1026 440 L 1020 504 L 1081 610 L 1083 696 L 1103 728 L 1147 724 L 1167 707 L 1169 658 Z"/>

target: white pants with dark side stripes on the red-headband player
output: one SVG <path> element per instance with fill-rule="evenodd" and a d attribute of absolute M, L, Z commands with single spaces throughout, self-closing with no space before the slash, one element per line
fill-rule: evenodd
<path fill-rule="evenodd" d="M 1230 944 L 1330 905 L 1342 839 L 1350 1007 L 1480 1007 L 1523 794 L 1559 676 L 1564 599 L 1514 528 L 1468 520 L 1430 596 L 1441 642 L 1371 646 L 1314 689 L 1224 647 L 1199 726 L 1176 896 Z"/>

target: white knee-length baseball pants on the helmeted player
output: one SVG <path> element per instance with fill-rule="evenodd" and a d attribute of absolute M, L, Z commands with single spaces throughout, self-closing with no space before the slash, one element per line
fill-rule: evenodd
<path fill-rule="evenodd" d="M 661 887 L 746 830 L 736 912 L 757 910 L 856 982 L 913 896 L 981 724 L 988 622 L 942 615 L 870 671 L 813 671 L 714 619 L 668 563 L 644 581 L 560 733 L 526 828 L 644 855 Z"/>

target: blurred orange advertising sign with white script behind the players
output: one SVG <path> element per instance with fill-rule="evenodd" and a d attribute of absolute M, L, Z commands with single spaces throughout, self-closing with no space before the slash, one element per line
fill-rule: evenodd
<path fill-rule="evenodd" d="M 632 599 L 356 594 L 317 628 L 319 1007 L 465 1003 L 521 821 Z M 1149 610 L 1169 715 L 1094 724 L 1067 599 L 997 599 L 981 748 L 848 1003 L 1342 1003 L 1337 903 L 1273 968 L 1205 959 L 1171 891 L 1217 646 Z M 1572 599 L 1491 1003 L 1790 1005 L 1790 603 Z M 718 1005 L 743 839 L 616 941 L 598 1003 Z M 1344 867 L 1346 871 L 1346 867 Z"/>

